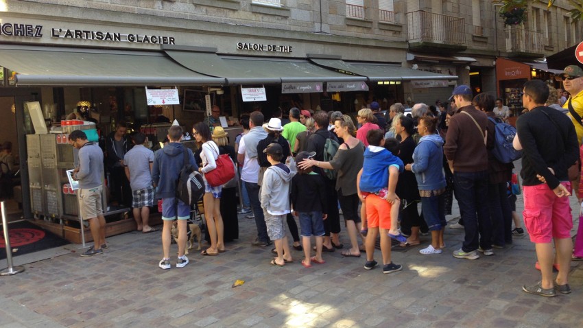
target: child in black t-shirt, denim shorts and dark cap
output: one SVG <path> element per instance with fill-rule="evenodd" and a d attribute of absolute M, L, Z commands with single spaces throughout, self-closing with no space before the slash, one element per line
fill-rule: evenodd
<path fill-rule="evenodd" d="M 316 152 L 300 152 L 296 156 L 296 163 L 302 163 L 316 155 Z M 322 241 L 324 236 L 324 222 L 326 220 L 326 196 L 324 191 L 324 178 L 312 172 L 311 167 L 300 169 L 298 174 L 292 178 L 292 207 L 294 215 L 300 217 L 300 229 L 302 235 L 302 246 L 304 248 L 305 259 L 302 266 L 311 267 L 311 262 L 322 264 Z M 316 256 L 311 257 L 310 237 L 316 237 Z"/>

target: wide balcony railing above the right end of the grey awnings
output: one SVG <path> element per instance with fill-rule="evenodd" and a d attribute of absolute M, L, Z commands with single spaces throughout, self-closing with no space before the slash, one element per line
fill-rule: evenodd
<path fill-rule="evenodd" d="M 465 45 L 465 20 L 459 17 L 418 10 L 407 12 L 409 42 Z"/>

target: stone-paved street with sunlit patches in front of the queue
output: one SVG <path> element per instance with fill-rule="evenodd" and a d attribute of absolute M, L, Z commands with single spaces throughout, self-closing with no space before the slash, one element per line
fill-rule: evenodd
<path fill-rule="evenodd" d="M 519 213 L 521 204 L 519 196 Z M 271 247 L 250 245 L 254 220 L 241 215 L 239 225 L 240 239 L 226 253 L 193 251 L 182 269 L 176 258 L 171 270 L 158 268 L 159 232 L 111 237 L 104 255 L 27 264 L 21 274 L 0 277 L 0 327 L 583 327 L 582 262 L 571 262 L 569 295 L 521 290 L 540 277 L 527 235 L 470 261 L 451 256 L 463 231 L 447 228 L 447 251 L 420 255 L 429 240 L 423 237 L 420 246 L 393 253 L 402 272 L 383 274 L 364 270 L 364 256 L 338 250 L 309 269 L 296 250 L 294 263 L 270 266 Z M 344 232 L 341 241 L 348 244 Z M 246 282 L 232 288 L 236 279 Z"/>

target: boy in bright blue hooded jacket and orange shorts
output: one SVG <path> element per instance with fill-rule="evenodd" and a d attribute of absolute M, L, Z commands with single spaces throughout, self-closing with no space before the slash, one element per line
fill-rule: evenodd
<path fill-rule="evenodd" d="M 374 243 L 377 233 L 381 231 L 381 253 L 383 255 L 383 273 L 401 271 L 403 266 L 391 261 L 391 241 L 389 233 L 398 235 L 396 220 L 398 197 L 395 187 L 398 174 L 403 172 L 403 161 L 383 148 L 385 140 L 381 130 L 370 130 L 366 134 L 368 147 L 364 151 L 364 163 L 357 176 L 358 194 L 366 197 L 366 215 L 368 234 L 366 235 L 366 263 L 364 268 L 371 270 L 377 266 L 374 261 Z M 394 211 L 396 209 L 396 211 Z"/>

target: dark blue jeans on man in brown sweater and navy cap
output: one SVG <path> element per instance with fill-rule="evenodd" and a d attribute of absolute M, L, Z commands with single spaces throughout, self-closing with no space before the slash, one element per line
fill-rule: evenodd
<path fill-rule="evenodd" d="M 488 207 L 488 171 L 453 172 L 453 187 L 464 220 L 462 250 L 472 252 L 478 246 L 492 248 L 492 222 Z"/>

